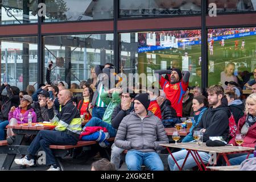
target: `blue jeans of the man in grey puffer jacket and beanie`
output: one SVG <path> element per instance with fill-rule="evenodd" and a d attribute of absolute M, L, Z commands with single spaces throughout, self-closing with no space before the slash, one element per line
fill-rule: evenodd
<path fill-rule="evenodd" d="M 163 171 L 163 162 L 156 152 L 128 151 L 125 156 L 125 163 L 129 171 L 141 171 L 144 164 L 151 171 Z"/>

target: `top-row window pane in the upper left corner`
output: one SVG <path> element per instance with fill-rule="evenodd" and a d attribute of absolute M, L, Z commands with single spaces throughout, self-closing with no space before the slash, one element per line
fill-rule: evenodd
<path fill-rule="evenodd" d="M 1 24 L 38 22 L 38 1 L 3 0 L 0 5 Z"/>

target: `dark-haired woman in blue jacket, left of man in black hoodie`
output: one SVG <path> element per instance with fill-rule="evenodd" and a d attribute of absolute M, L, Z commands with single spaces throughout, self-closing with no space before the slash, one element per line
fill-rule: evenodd
<path fill-rule="evenodd" d="M 192 127 L 189 129 L 190 131 L 189 134 L 185 138 L 183 138 L 182 142 L 191 142 L 192 140 L 194 140 L 192 130 L 200 122 L 204 111 L 207 110 L 207 107 L 208 107 L 208 101 L 207 101 L 207 98 L 204 97 L 203 95 L 193 98 L 192 109 L 194 111 L 195 120 L 193 121 Z"/>

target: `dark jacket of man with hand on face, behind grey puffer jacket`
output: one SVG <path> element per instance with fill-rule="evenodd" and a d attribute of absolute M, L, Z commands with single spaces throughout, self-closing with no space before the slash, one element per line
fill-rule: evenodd
<path fill-rule="evenodd" d="M 122 119 L 126 117 L 126 115 L 130 114 L 133 111 L 134 107 L 131 104 L 130 109 L 122 110 L 121 104 L 117 105 L 112 113 L 111 117 L 111 125 L 114 129 L 118 129 Z"/>

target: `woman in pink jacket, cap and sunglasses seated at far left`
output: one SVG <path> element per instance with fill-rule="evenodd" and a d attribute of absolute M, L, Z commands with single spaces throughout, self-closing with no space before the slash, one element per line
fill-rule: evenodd
<path fill-rule="evenodd" d="M 9 126 L 14 126 L 17 123 L 27 123 L 28 121 L 28 114 L 31 112 L 32 115 L 32 122 L 36 122 L 36 113 L 31 108 L 32 97 L 28 95 L 24 95 L 22 99 L 20 99 L 19 107 L 13 106 L 9 112 Z M 15 134 L 13 133 L 12 129 L 7 129 L 7 143 L 12 144 L 15 139 Z"/>

